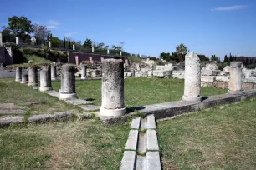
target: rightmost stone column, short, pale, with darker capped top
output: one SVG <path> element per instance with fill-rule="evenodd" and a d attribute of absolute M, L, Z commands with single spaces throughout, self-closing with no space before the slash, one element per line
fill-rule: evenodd
<path fill-rule="evenodd" d="M 243 94 L 242 89 L 242 62 L 230 62 L 230 78 L 228 94 Z"/>

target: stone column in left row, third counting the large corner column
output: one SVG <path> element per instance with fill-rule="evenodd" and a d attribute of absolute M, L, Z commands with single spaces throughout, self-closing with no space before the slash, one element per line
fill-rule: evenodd
<path fill-rule="evenodd" d="M 40 71 L 40 92 L 53 90 L 51 82 L 51 68 L 49 66 L 42 66 Z"/>

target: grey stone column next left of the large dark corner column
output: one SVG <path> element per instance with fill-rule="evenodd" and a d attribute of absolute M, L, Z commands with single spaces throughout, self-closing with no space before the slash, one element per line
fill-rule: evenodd
<path fill-rule="evenodd" d="M 75 93 L 75 68 L 72 65 L 65 64 L 61 67 L 61 89 L 59 98 L 62 100 L 77 98 Z"/>

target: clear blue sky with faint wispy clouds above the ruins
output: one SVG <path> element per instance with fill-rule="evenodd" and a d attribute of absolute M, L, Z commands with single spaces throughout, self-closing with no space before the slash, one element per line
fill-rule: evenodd
<path fill-rule="evenodd" d="M 0 27 L 25 16 L 53 32 L 84 42 L 125 42 L 126 52 L 158 57 L 184 43 L 190 51 L 256 56 L 255 0 L 8 0 Z"/>

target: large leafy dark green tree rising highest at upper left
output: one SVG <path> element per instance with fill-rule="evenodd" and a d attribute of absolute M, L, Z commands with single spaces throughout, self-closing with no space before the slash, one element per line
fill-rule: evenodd
<path fill-rule="evenodd" d="M 8 18 L 8 29 L 13 32 L 16 37 L 22 37 L 23 34 L 33 32 L 31 21 L 26 17 L 13 16 Z"/>

